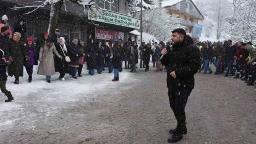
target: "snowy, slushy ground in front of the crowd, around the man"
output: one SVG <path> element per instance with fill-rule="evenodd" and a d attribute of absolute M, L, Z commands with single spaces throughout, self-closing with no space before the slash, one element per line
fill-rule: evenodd
<path fill-rule="evenodd" d="M 36 72 L 36 70 L 35 70 Z M 0 143 L 166 143 L 176 125 L 169 108 L 166 72 L 124 70 L 66 82 L 35 75 L 7 88 L 0 101 Z M 255 87 L 223 75 L 195 75 L 187 103 L 188 134 L 179 143 L 256 143 Z"/>

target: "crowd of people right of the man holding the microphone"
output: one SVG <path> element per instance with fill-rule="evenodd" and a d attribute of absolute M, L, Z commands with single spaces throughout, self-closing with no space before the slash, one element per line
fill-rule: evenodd
<path fill-rule="evenodd" d="M 215 75 L 241 78 L 247 85 L 255 85 L 256 80 L 256 46 L 252 42 L 244 43 L 228 40 L 211 43 L 197 43 L 202 57 L 202 68 L 199 72 L 211 74 L 210 64 L 216 67 Z"/>

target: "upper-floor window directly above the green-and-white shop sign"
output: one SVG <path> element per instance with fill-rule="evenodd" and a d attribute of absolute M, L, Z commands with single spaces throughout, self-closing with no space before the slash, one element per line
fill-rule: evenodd
<path fill-rule="evenodd" d="M 118 12 L 118 0 L 109 0 L 109 2 L 105 0 L 99 0 L 98 6 L 109 11 Z"/>

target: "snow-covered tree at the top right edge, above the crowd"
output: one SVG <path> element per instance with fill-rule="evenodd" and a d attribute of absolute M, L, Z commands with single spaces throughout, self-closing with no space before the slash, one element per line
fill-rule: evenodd
<path fill-rule="evenodd" d="M 234 0 L 233 15 L 226 20 L 231 39 L 256 43 L 256 0 Z"/>

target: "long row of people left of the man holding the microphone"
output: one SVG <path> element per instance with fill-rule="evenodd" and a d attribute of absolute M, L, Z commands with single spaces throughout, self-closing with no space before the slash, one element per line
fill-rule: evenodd
<path fill-rule="evenodd" d="M 33 80 L 33 67 L 38 66 L 38 75 L 45 75 L 46 82 L 51 83 L 51 75 L 59 72 L 59 79 L 65 80 L 65 75 L 69 74 L 72 78 L 82 77 L 83 65 L 87 64 L 88 74 L 94 75 L 95 69 L 98 74 L 108 70 L 114 73 L 113 82 L 119 81 L 119 72 L 130 69 L 136 72 L 137 64 L 140 61 L 140 68 L 149 70 L 150 57 L 153 59 L 153 67 L 156 71 L 163 70 L 160 62 L 161 49 L 165 44 L 142 42 L 138 48 L 136 41 L 130 38 L 124 42 L 114 40 L 93 40 L 92 36 L 86 41 L 72 40 L 71 43 L 61 35 L 57 28 L 54 36 L 44 33 L 41 41 L 36 36 L 27 36 L 23 19 L 14 24 L 14 30 L 8 23 L 7 15 L 2 16 L 0 24 L 0 87 L 2 93 L 6 94 L 8 100 L 14 98 L 11 92 L 6 89 L 7 74 L 15 77 L 15 84 L 19 84 L 19 77 L 23 77 L 23 67 L 28 74 L 28 82 Z M 7 67 L 7 68 L 6 68 Z"/>

